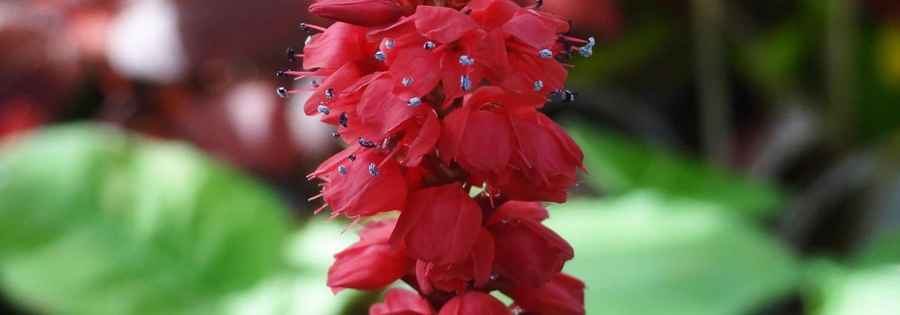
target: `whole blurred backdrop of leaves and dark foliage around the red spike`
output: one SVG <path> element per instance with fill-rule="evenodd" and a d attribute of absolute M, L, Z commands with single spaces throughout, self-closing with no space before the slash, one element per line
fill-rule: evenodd
<path fill-rule="evenodd" d="M 0 311 L 365 313 L 306 200 L 340 146 L 275 95 L 309 4 L 0 2 Z M 900 310 L 900 2 L 544 8 L 599 41 L 545 108 L 590 314 Z"/>

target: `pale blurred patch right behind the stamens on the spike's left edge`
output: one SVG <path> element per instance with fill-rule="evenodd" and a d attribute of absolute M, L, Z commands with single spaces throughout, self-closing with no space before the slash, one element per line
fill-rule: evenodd
<path fill-rule="evenodd" d="M 306 78 L 295 82 L 297 86 L 310 85 L 310 80 Z M 338 129 L 336 126 L 320 121 L 320 115 L 307 116 L 303 112 L 303 103 L 306 103 L 311 95 L 312 92 L 291 95 L 291 98 L 288 99 L 287 121 L 294 143 L 303 148 L 304 158 L 318 160 L 319 157 L 330 152 L 331 143 L 340 140 L 331 138 L 331 131 Z"/>

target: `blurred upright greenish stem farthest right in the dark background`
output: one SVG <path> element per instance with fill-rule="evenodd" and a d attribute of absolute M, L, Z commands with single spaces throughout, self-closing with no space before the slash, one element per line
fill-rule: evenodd
<path fill-rule="evenodd" d="M 828 0 L 825 23 L 825 86 L 829 139 L 835 151 L 851 145 L 853 121 L 853 64 L 859 35 L 857 4 L 847 0 Z"/>

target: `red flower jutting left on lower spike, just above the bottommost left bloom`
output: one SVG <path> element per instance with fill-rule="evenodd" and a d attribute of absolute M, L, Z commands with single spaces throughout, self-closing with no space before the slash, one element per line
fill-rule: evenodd
<path fill-rule="evenodd" d="M 345 288 L 378 290 L 400 280 L 415 263 L 404 247 L 388 244 L 396 220 L 369 223 L 359 232 L 359 241 L 335 255 L 329 268 L 328 285 L 334 293 Z"/>

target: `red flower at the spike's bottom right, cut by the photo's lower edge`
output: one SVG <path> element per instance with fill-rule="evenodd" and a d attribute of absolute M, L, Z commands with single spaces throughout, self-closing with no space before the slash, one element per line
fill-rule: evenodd
<path fill-rule="evenodd" d="M 540 289 L 519 284 L 510 290 L 501 290 L 522 311 L 538 314 L 584 314 L 584 283 L 571 275 L 560 273 Z"/>

